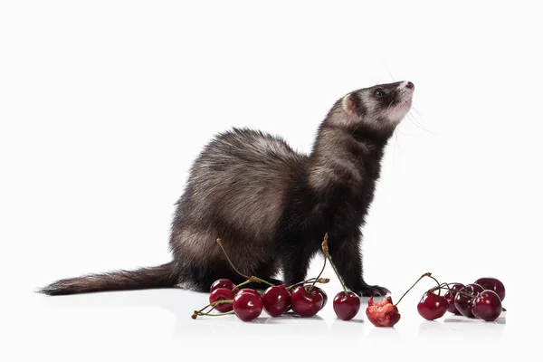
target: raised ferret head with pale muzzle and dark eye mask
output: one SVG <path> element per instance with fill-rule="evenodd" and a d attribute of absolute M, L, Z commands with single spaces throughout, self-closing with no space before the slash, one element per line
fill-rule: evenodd
<path fill-rule="evenodd" d="M 346 129 L 395 129 L 411 109 L 413 91 L 411 81 L 352 91 L 338 100 L 329 121 Z"/>

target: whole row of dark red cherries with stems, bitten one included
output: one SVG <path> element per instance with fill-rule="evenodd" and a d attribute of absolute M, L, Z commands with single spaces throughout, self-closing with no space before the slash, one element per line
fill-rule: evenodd
<path fill-rule="evenodd" d="M 339 291 L 333 300 L 333 309 L 338 319 L 353 319 L 360 310 L 360 297 L 356 293 L 348 291 L 339 277 L 334 263 L 331 261 L 328 248 L 328 233 L 325 234 L 321 245 L 325 258 L 319 275 L 316 278 L 300 281 L 290 286 L 274 285 L 256 276 L 244 275 L 235 269 L 232 261 L 224 251 L 220 239 L 217 239 L 217 243 L 223 250 L 233 270 L 246 278 L 246 281 L 238 285 L 235 285 L 229 279 L 214 281 L 210 288 L 209 304 L 201 310 L 195 310 L 192 315 L 193 319 L 198 316 L 234 314 L 240 320 L 251 321 L 257 319 L 262 314 L 262 310 L 265 310 L 271 317 L 280 317 L 288 312 L 303 318 L 315 316 L 326 306 L 328 301 L 327 293 L 316 286 L 317 283 L 329 282 L 328 278 L 320 277 L 327 261 L 338 276 L 343 288 L 343 291 Z M 371 297 L 367 301 L 367 319 L 376 327 L 394 327 L 401 318 L 397 308 L 398 303 L 424 277 L 431 278 L 437 283 L 436 287 L 424 292 L 423 297 L 417 304 L 417 311 L 424 319 L 439 319 L 448 311 L 467 318 L 494 321 L 505 310 L 501 305 L 502 300 L 505 299 L 505 287 L 496 278 L 480 278 L 465 285 L 457 282 L 440 283 L 432 276 L 432 273 L 426 272 L 414 282 L 411 288 L 405 291 L 404 295 L 395 304 L 393 304 L 390 296 L 378 301 Z M 254 282 L 264 283 L 269 287 L 262 294 L 246 287 L 246 284 Z M 441 295 L 442 291 L 444 291 L 443 295 Z M 218 311 L 218 313 L 212 313 L 213 310 Z"/>

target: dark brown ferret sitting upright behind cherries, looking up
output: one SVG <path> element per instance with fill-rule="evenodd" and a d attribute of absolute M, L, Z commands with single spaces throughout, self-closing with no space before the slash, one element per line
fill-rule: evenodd
<path fill-rule="evenodd" d="M 245 281 L 233 266 L 245 275 L 291 285 L 306 279 L 328 233 L 330 258 L 350 291 L 359 296 L 390 293 L 364 280 L 362 229 L 386 144 L 411 109 L 413 93 L 411 81 L 349 92 L 319 124 L 310 154 L 260 130 L 216 134 L 196 157 L 176 202 L 171 262 L 62 279 L 40 291 L 204 292 L 220 278 Z M 274 279 L 280 272 L 282 281 Z"/>

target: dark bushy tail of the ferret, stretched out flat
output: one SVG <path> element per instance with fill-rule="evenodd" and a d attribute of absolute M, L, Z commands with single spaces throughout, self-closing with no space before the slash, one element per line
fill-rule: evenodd
<path fill-rule="evenodd" d="M 94 291 L 129 291 L 151 288 L 172 288 L 179 279 L 175 263 L 141 268 L 136 271 L 110 271 L 62 279 L 43 287 L 39 292 L 47 295 L 66 295 Z"/>

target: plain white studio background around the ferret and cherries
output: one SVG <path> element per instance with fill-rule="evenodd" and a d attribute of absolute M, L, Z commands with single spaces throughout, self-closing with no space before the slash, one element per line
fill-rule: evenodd
<path fill-rule="evenodd" d="M 543 241 L 537 2 L 1 4 L 2 360 L 529 352 Z M 424 271 L 495 276 L 507 288 L 500 323 L 424 321 L 415 306 L 431 281 L 402 301 L 395 329 L 374 328 L 364 308 L 342 322 L 331 303 L 320 319 L 243 323 L 190 319 L 206 295 L 187 291 L 33 292 L 167 262 L 174 203 L 215 133 L 248 126 L 308 152 L 335 100 L 400 80 L 414 82 L 416 111 L 383 161 L 366 279 L 397 300 Z"/>

